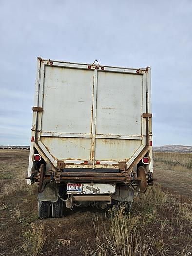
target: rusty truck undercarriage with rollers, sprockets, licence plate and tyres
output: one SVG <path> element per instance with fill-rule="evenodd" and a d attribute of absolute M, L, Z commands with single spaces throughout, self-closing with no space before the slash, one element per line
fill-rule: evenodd
<path fill-rule="evenodd" d="M 119 163 L 121 169 L 105 172 L 103 169 L 79 168 L 72 171 L 63 168 L 60 162 L 59 169 L 46 170 L 46 163 L 41 158 L 39 170 L 34 164 L 31 176 L 26 177 L 32 184 L 38 183 L 39 217 L 62 217 L 65 208 L 72 210 L 74 206 L 105 209 L 107 205 L 117 205 L 118 202 L 126 203 L 130 209 L 134 193 L 145 193 L 147 187 L 153 185 L 148 152 L 146 147 L 128 169 Z M 144 163 L 143 158 L 148 162 Z"/>

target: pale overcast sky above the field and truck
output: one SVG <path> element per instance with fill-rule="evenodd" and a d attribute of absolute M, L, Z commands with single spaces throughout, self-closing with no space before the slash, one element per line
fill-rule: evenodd
<path fill-rule="evenodd" d="M 0 0 L 0 145 L 29 145 L 36 58 L 152 68 L 153 145 L 192 145 L 192 0 Z"/>

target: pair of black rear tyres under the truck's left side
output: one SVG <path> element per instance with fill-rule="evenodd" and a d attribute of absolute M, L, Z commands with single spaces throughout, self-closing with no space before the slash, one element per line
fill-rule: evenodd
<path fill-rule="evenodd" d="M 63 216 L 63 201 L 58 198 L 57 202 L 38 201 L 39 218 L 60 218 Z"/>

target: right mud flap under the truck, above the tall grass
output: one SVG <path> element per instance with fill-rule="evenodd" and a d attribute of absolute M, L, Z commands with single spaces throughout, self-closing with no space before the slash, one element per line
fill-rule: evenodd
<path fill-rule="evenodd" d="M 127 185 L 116 186 L 116 193 L 112 195 L 112 199 L 119 202 L 133 202 L 134 191 Z"/>

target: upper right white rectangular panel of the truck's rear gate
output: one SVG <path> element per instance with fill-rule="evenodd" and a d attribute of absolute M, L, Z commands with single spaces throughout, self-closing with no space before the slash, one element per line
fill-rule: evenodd
<path fill-rule="evenodd" d="M 141 136 L 142 76 L 98 72 L 96 134 Z"/>

